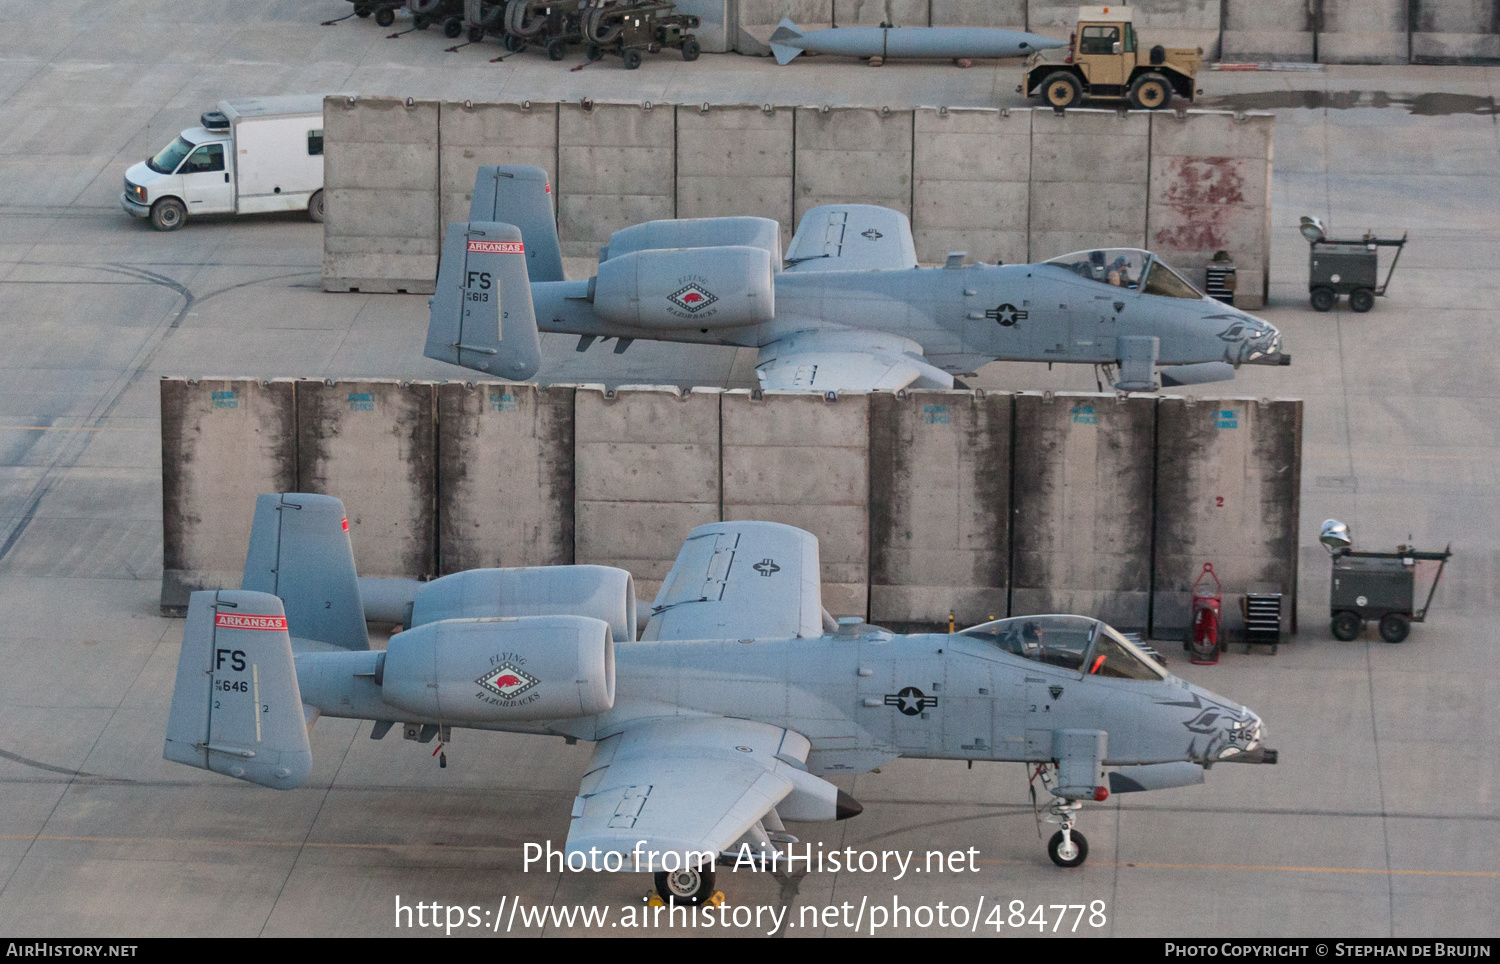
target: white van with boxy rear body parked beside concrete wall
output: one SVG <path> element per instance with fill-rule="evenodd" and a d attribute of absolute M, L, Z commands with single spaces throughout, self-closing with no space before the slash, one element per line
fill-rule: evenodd
<path fill-rule="evenodd" d="M 198 214 L 322 220 L 322 94 L 220 100 L 201 121 L 124 172 L 126 211 L 158 231 Z"/>

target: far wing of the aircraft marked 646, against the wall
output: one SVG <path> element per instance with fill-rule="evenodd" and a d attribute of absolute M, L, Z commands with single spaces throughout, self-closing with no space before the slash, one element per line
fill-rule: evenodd
<path fill-rule="evenodd" d="M 666 574 L 640 639 L 824 633 L 818 540 L 776 522 L 698 526 Z"/>

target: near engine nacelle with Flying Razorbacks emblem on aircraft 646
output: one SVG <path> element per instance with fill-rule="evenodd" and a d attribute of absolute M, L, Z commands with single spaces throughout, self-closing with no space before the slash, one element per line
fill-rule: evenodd
<path fill-rule="evenodd" d="M 390 640 L 381 699 L 428 720 L 572 720 L 615 705 L 615 643 L 588 616 L 444 619 Z"/>

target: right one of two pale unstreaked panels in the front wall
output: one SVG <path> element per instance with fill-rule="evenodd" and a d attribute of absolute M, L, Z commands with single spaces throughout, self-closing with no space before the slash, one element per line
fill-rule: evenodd
<path fill-rule="evenodd" d="M 818 537 L 824 607 L 868 612 L 870 396 L 723 394 L 723 514 Z"/>

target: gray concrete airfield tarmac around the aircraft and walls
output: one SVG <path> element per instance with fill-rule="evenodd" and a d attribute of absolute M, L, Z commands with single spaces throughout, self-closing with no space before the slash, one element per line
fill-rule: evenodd
<path fill-rule="evenodd" d="M 218 99 L 249 94 L 1020 103 L 1012 63 L 870 70 L 832 58 L 776 67 L 663 55 L 628 73 L 618 61 L 570 72 L 576 55 L 489 63 L 498 46 L 444 54 L 435 31 L 387 40 L 393 30 L 370 21 L 316 25 L 346 10 L 338 0 L 4 7 L 0 933 L 430 934 L 394 927 L 398 895 L 483 913 L 518 897 L 528 907 L 639 906 L 650 889 L 645 877 L 520 870 L 525 843 L 561 846 L 586 745 L 459 732 L 438 769 L 430 745 L 376 744 L 369 724 L 324 720 L 314 777 L 290 793 L 162 762 L 183 622 L 158 615 L 158 376 L 454 370 L 420 357 L 424 298 L 320 291 L 318 225 L 204 219 L 158 234 L 118 207 L 129 163 Z M 1028 915 L 1104 901 L 1107 921 L 1086 918 L 1080 936 L 1497 931 L 1500 72 L 1204 72 L 1202 84 L 1208 105 L 1278 117 L 1263 316 L 1281 327 L 1294 363 L 1210 388 L 1306 399 L 1300 633 L 1275 655 L 1236 646 L 1215 667 L 1162 649 L 1173 672 L 1260 712 L 1281 763 L 1224 765 L 1202 787 L 1086 807 L 1089 861 L 1062 871 L 1036 837 L 1022 766 L 898 760 L 842 781 L 864 804 L 861 817 L 794 832 L 826 849 L 975 847 L 978 873 L 900 882 L 813 873 L 786 886 L 720 876 L 730 903 L 792 907 L 798 927 L 786 936 L 849 933 L 802 927 L 801 907 L 892 897 L 909 907 L 982 898 L 986 913 L 1018 900 Z M 1308 307 L 1300 214 L 1338 234 L 1412 232 L 1374 312 Z M 638 342 L 615 358 L 549 339 L 546 351 L 555 381 L 742 387 L 753 378 L 746 352 L 732 349 Z M 648 378 L 658 366 L 668 376 Z M 1092 390 L 1094 376 L 994 364 L 974 384 Z M 1404 645 L 1372 630 L 1354 643 L 1328 634 L 1328 559 L 1316 535 L 1330 516 L 1350 525 L 1356 547 L 1408 535 L 1424 549 L 1454 543 L 1431 621 Z M 1071 924 L 1070 912 L 1060 934 Z"/>

